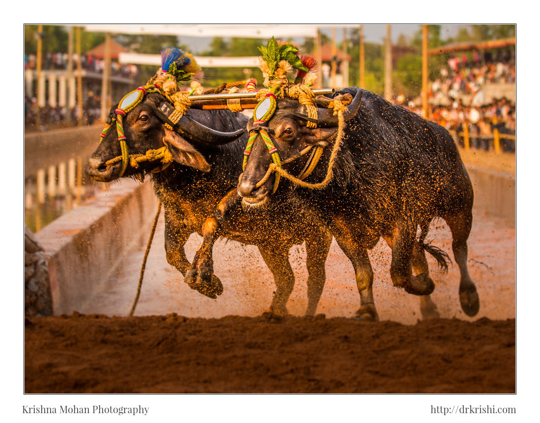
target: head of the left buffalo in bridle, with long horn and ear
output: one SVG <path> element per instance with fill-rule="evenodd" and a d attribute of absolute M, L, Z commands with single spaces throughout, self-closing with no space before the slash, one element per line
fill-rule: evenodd
<path fill-rule="evenodd" d="M 187 115 L 174 125 L 168 120 L 174 108 L 159 93 L 145 95 L 125 116 L 119 117 L 117 108 L 118 105 L 111 108 L 109 123 L 112 124 L 88 161 L 87 173 L 98 182 L 159 170 L 167 160 L 208 172 L 210 165 L 199 152 L 200 146 L 226 144 L 244 133 L 244 130 L 215 131 Z M 116 126 L 118 118 L 122 119 L 121 137 Z M 167 128 L 171 124 L 174 130 Z M 123 137 L 124 149 L 120 143 Z M 123 155 L 127 159 L 122 160 Z"/>

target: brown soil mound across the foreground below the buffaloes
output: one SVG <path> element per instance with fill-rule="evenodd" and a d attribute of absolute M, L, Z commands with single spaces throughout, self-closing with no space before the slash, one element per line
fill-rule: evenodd
<path fill-rule="evenodd" d="M 515 319 L 25 320 L 26 393 L 514 393 Z"/>

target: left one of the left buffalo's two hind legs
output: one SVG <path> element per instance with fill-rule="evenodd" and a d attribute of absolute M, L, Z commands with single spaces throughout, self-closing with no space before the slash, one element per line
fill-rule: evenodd
<path fill-rule="evenodd" d="M 264 245 L 259 246 L 262 259 L 274 275 L 276 290 L 272 298 L 270 312 L 276 315 L 287 314 L 287 300 L 294 288 L 294 273 L 289 263 L 289 249 L 291 245 Z"/>

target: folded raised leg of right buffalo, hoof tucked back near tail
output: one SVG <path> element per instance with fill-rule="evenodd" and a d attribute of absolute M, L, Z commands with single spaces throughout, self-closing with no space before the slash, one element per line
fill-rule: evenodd
<path fill-rule="evenodd" d="M 400 219 L 396 223 L 390 238 L 392 247 L 390 277 L 394 286 L 404 288 L 409 294 L 429 295 L 435 288 L 433 280 L 427 273 L 422 272 L 417 276 L 413 275 L 412 259 L 416 225 L 408 219 Z"/>

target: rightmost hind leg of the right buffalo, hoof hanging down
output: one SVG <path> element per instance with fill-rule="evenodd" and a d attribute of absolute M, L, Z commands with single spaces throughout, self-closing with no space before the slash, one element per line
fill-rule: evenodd
<path fill-rule="evenodd" d="M 452 250 L 457 265 L 460 267 L 460 302 L 465 314 L 473 317 L 480 310 L 480 300 L 476 286 L 469 276 L 467 268 L 467 239 L 473 225 L 473 213 L 468 210 L 456 216 L 444 217 L 452 232 Z"/>

